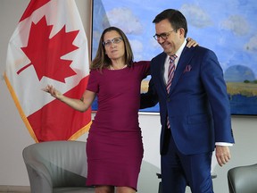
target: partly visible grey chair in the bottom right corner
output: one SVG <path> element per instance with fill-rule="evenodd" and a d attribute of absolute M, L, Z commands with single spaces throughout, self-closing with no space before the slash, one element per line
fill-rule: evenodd
<path fill-rule="evenodd" d="M 257 164 L 238 166 L 228 170 L 229 193 L 257 192 Z"/>

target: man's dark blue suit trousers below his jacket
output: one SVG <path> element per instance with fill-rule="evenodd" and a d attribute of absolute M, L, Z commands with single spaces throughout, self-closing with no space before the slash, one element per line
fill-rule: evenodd
<path fill-rule="evenodd" d="M 170 130 L 169 130 L 170 131 Z M 213 193 L 211 180 L 212 152 L 183 155 L 170 134 L 167 151 L 161 156 L 162 193 Z"/>

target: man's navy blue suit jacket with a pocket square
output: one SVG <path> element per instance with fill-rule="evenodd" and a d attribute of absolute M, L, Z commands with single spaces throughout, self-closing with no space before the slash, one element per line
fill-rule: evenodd
<path fill-rule="evenodd" d="M 202 46 L 184 48 L 171 83 L 163 80 L 166 54 L 151 61 L 149 91 L 141 96 L 141 108 L 160 103 L 161 154 L 170 130 L 180 152 L 186 155 L 211 152 L 215 142 L 234 143 L 230 107 L 223 71 L 217 56 Z"/>

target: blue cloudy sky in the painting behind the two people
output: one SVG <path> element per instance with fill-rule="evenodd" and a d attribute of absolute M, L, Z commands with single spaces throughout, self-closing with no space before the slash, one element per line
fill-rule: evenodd
<path fill-rule="evenodd" d="M 256 0 L 95 0 L 94 4 L 98 11 L 93 16 L 93 57 L 99 35 L 112 25 L 127 34 L 135 61 L 150 60 L 162 52 L 153 39 L 152 21 L 164 9 L 174 8 L 187 18 L 187 37 L 213 50 L 224 71 L 245 65 L 257 79 Z"/>

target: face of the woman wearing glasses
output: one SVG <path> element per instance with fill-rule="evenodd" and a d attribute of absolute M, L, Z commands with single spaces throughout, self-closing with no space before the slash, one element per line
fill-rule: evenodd
<path fill-rule="evenodd" d="M 125 46 L 120 34 L 115 31 L 108 31 L 104 34 L 105 54 L 113 61 L 124 60 Z"/>

